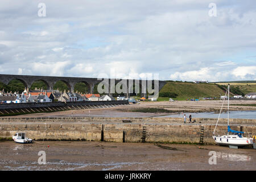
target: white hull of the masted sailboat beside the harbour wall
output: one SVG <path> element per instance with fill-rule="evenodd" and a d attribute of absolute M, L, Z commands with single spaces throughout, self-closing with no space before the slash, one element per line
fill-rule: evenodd
<path fill-rule="evenodd" d="M 253 145 L 253 138 L 237 137 L 237 135 L 213 136 L 213 139 L 220 146 L 245 147 Z"/>

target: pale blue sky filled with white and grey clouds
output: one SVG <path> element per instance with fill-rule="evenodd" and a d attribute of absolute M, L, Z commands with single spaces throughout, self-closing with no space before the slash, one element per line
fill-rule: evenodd
<path fill-rule="evenodd" d="M 256 80 L 255 0 L 1 0 L 0 20 L 0 74 Z"/>

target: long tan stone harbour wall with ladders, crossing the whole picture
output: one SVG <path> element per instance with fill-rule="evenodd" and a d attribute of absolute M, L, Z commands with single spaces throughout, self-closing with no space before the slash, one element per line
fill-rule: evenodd
<path fill-rule="evenodd" d="M 215 122 L 199 119 L 196 123 L 180 122 L 182 118 L 1 118 L 0 137 L 26 132 L 35 140 L 86 140 L 106 142 L 160 142 L 214 144 Z M 235 120 L 235 119 L 234 119 Z M 240 121 L 241 120 L 241 121 Z M 199 123 L 201 122 L 201 123 Z M 230 121 L 233 130 L 256 134 L 255 119 Z M 203 130 L 203 133 L 202 133 Z M 226 121 L 220 121 L 216 134 L 225 134 Z"/>

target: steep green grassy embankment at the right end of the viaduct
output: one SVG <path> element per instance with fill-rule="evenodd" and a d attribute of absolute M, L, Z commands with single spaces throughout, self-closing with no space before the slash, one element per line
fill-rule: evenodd
<path fill-rule="evenodd" d="M 199 97 L 220 97 L 225 92 L 216 84 L 200 83 L 195 84 L 193 82 L 174 82 L 167 81 L 167 84 L 159 92 L 176 94 L 176 100 L 187 100 L 191 98 Z M 159 100 L 166 100 L 166 98 L 160 97 Z"/>

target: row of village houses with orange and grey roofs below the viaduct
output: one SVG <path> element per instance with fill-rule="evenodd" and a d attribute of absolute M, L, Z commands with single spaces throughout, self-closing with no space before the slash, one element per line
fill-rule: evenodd
<path fill-rule="evenodd" d="M 81 102 L 81 101 L 113 101 L 114 97 L 100 94 L 82 94 L 80 92 L 64 92 L 57 90 L 25 90 L 22 93 L 0 92 L 1 104 L 28 102 Z"/>

